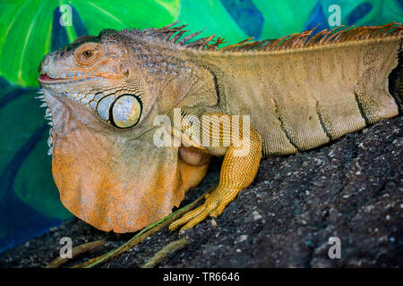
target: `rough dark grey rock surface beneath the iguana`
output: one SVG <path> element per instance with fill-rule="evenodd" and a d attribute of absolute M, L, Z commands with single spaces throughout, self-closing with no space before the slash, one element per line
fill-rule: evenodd
<path fill-rule="evenodd" d="M 159 267 L 402 267 L 403 117 L 379 122 L 327 146 L 262 161 L 253 184 L 224 213 L 184 231 L 191 243 Z M 218 181 L 219 160 L 184 204 Z M 58 255 L 60 238 L 75 246 L 105 239 L 107 247 L 74 259 L 74 265 L 129 240 L 78 219 L 0 255 L 2 267 L 43 266 Z M 341 258 L 330 259 L 330 237 Z M 139 267 L 177 231 L 167 228 L 101 267 Z"/>

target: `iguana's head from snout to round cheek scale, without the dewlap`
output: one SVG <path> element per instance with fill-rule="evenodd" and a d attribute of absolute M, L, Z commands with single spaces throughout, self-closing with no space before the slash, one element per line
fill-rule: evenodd
<path fill-rule="evenodd" d="M 90 107 L 117 128 L 133 127 L 141 117 L 144 91 L 141 76 L 130 76 L 133 63 L 127 54 L 124 38 L 116 30 L 103 30 L 99 37 L 82 36 L 45 55 L 39 82 L 48 92 Z"/>

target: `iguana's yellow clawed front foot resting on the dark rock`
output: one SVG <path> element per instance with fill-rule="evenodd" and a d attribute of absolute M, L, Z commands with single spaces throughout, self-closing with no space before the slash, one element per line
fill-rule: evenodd
<path fill-rule="evenodd" d="M 201 206 L 187 212 L 180 219 L 169 225 L 170 231 L 175 231 L 181 225 L 181 231 L 191 229 L 193 226 L 201 223 L 207 216 L 217 217 L 226 208 L 226 206 L 236 198 L 240 189 L 227 189 L 224 187 L 217 187 L 211 194 L 204 196 L 206 199 Z"/>

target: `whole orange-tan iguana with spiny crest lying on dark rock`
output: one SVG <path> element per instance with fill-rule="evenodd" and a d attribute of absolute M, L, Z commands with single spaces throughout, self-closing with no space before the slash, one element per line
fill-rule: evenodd
<path fill-rule="evenodd" d="M 40 63 L 61 200 L 100 230 L 137 231 L 170 214 L 210 157 L 224 156 L 217 188 L 169 226 L 191 228 L 252 183 L 262 156 L 318 147 L 399 114 L 402 25 L 219 49 L 222 38 L 190 42 L 200 31 L 184 37 L 176 23 L 104 29 Z"/>

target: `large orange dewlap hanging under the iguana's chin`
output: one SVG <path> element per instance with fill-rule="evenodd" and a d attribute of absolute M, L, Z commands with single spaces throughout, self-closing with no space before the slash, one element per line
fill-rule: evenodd
<path fill-rule="evenodd" d="M 137 231 L 158 221 L 207 172 L 208 163 L 179 159 L 177 147 L 151 142 L 148 152 L 139 152 L 148 144 L 133 140 L 122 148 L 84 127 L 75 122 L 65 136 L 56 136 L 52 169 L 64 206 L 99 230 Z"/>

